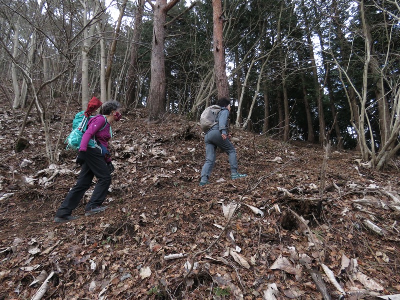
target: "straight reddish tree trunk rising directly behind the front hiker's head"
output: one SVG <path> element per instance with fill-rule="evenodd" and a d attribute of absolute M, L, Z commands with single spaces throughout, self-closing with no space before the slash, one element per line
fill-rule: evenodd
<path fill-rule="evenodd" d="M 226 77 L 225 50 L 223 48 L 222 0 L 212 0 L 214 22 L 214 61 L 215 80 L 218 98 L 229 98 L 228 78 Z"/>

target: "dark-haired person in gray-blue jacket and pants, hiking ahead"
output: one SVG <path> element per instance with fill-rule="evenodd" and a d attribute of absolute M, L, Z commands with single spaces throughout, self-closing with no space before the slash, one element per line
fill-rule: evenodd
<path fill-rule="evenodd" d="M 236 149 L 229 140 L 231 138 L 231 135 L 228 132 L 230 100 L 227 98 L 220 98 L 216 102 L 216 105 L 220 106 L 222 110 L 217 115 L 217 124 L 215 124 L 205 133 L 205 163 L 201 171 L 200 186 L 209 183 L 208 179 L 215 165 L 217 147 L 228 154 L 232 179 L 238 179 L 247 176 L 246 174 L 240 174 L 237 172 Z"/>

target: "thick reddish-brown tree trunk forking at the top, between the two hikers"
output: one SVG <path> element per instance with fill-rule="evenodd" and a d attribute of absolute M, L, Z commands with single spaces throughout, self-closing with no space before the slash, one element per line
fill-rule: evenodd
<path fill-rule="evenodd" d="M 165 20 L 166 13 L 179 0 L 156 0 L 155 5 L 147 1 L 154 11 L 153 41 L 151 48 L 151 81 L 147 100 L 148 122 L 159 122 L 160 115 L 165 112 Z"/>

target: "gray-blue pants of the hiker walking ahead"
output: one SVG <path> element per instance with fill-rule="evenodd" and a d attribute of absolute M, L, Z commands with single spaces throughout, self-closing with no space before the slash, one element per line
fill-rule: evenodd
<path fill-rule="evenodd" d="M 232 174 L 237 172 L 237 157 L 236 150 L 232 142 L 226 138 L 223 140 L 221 131 L 217 129 L 211 129 L 205 134 L 205 163 L 201 171 L 201 181 L 208 180 L 211 175 L 212 169 L 215 165 L 216 160 L 216 148 L 220 148 L 229 157 L 230 172 Z"/>

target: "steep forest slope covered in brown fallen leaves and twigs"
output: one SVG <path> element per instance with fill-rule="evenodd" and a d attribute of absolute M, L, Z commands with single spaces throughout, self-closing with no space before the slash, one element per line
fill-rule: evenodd
<path fill-rule="evenodd" d="M 50 111 L 54 142 L 70 130 L 62 106 Z M 0 113 L 0 299 L 40 298 L 40 287 L 45 299 L 400 293 L 398 160 L 378 173 L 332 148 L 325 167 L 323 148 L 233 130 L 249 176 L 230 180 L 218 153 L 212 184 L 199 187 L 199 126 L 174 115 L 148 125 L 138 109 L 113 125 L 109 209 L 84 217 L 92 187 L 74 212 L 81 218 L 55 224 L 80 170 L 75 154 L 61 147 L 49 165 L 33 114 L 29 147 L 17 153 L 21 113 Z"/>

